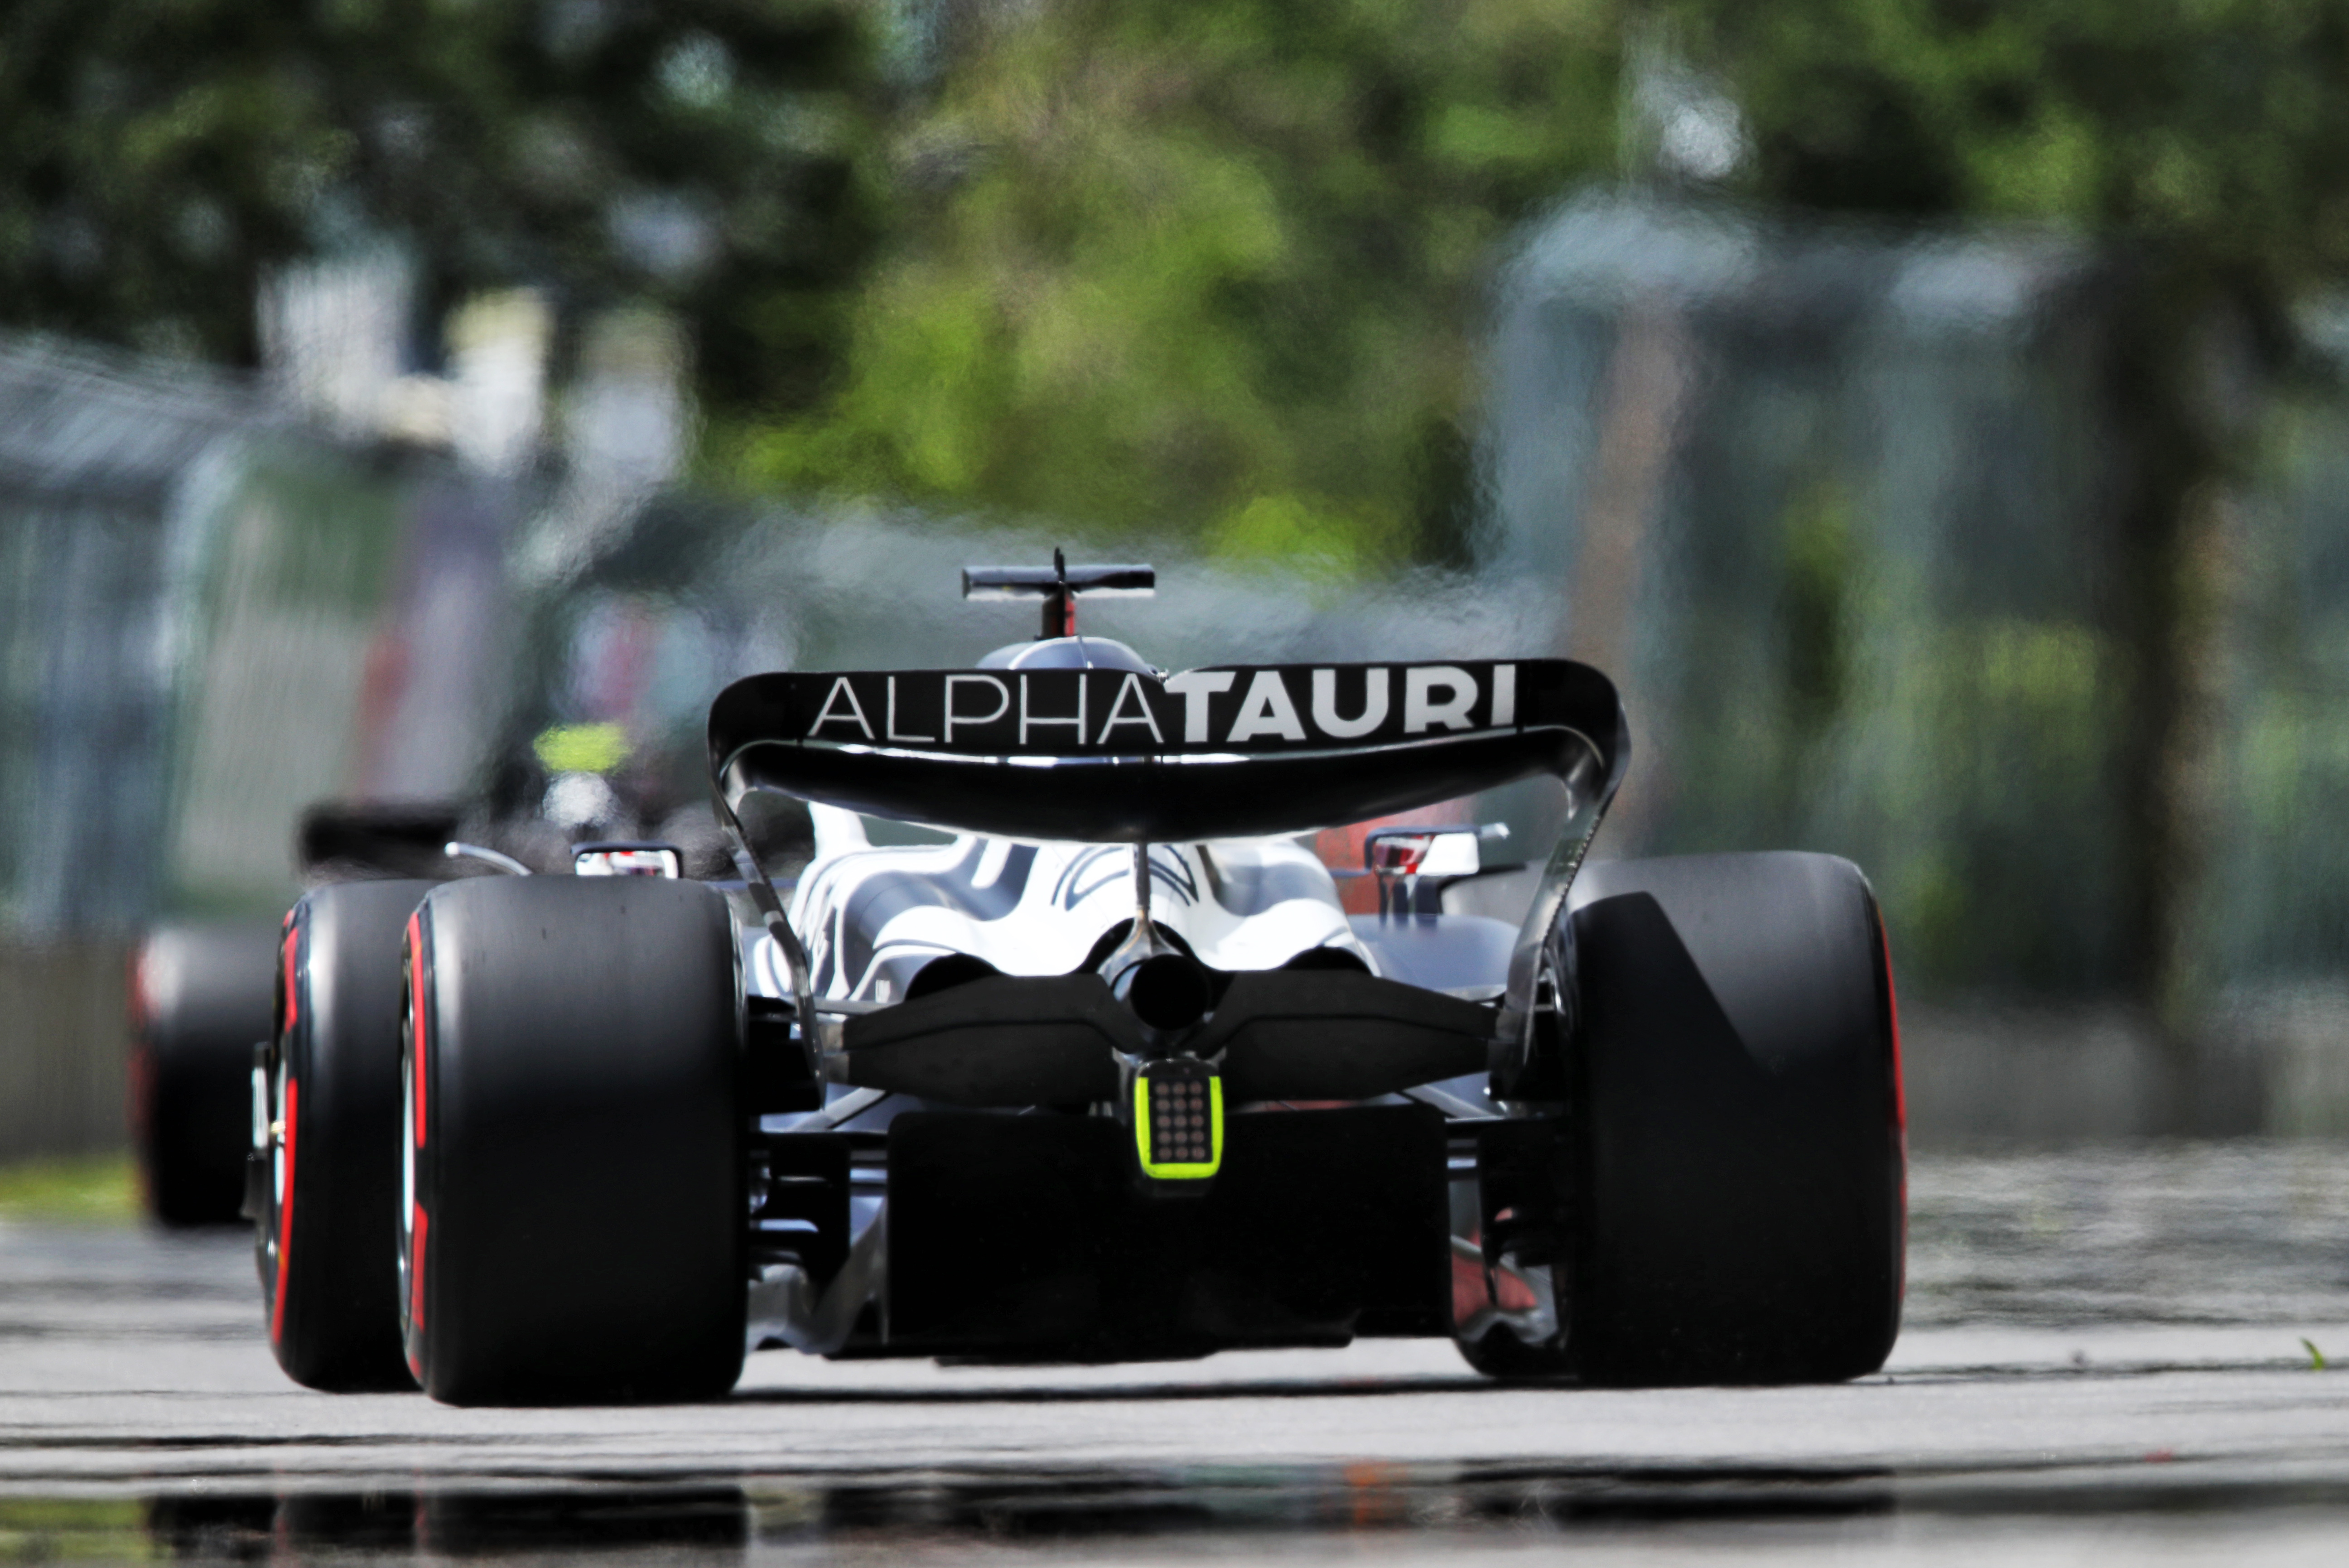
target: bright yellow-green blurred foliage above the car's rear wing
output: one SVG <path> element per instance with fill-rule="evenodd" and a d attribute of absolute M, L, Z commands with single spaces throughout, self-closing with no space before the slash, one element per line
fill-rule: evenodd
<path fill-rule="evenodd" d="M 754 484 L 1459 552 L 1506 228 L 1611 162 L 1609 0 L 1064 0 L 968 42 L 841 394 Z"/>

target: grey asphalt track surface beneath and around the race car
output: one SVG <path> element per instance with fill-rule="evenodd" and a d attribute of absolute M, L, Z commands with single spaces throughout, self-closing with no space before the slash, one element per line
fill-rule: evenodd
<path fill-rule="evenodd" d="M 242 1237 L 0 1228 L 0 1561 L 2349 1561 L 2349 1153 L 1921 1160 L 1912 1211 L 1842 1387 L 768 1352 L 592 1411 L 310 1394 Z"/>

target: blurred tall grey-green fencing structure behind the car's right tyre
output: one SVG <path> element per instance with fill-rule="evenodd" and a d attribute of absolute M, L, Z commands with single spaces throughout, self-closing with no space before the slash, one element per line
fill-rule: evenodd
<path fill-rule="evenodd" d="M 2213 343 L 2260 465 L 2180 596 L 2213 613 L 2161 629 L 2185 746 L 2149 768 L 2126 265 L 2032 228 L 1574 200 L 1499 298 L 1482 554 L 1560 582 L 1562 650 L 1626 685 L 1640 761 L 1600 852 L 1867 866 L 1905 995 L 1968 1009 L 1912 1007 L 1924 1122 L 2349 1131 L 2340 364 L 2253 385 Z M 2170 1016 L 2133 986 L 2156 899 Z"/>

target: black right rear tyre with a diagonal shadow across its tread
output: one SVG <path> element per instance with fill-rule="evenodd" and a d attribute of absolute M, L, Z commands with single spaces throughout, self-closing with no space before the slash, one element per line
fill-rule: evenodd
<path fill-rule="evenodd" d="M 1884 922 L 1830 854 L 1614 861 L 1576 887 L 1586 1383 L 1837 1383 L 1900 1331 L 1907 1136 Z"/>

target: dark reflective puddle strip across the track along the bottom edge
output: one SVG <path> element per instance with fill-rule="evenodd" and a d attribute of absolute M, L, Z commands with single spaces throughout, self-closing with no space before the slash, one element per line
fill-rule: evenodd
<path fill-rule="evenodd" d="M 2349 1530 L 2349 1483 L 1992 1476 L 1191 1467 L 740 1486 L 484 1486 L 0 1500 L 0 1563 L 890 1563 L 1419 1561 L 1571 1549 L 1579 1561 L 2264 1561 Z M 2201 1549 L 2196 1549 L 2201 1547 Z M 2135 1561 L 2135 1559 L 2133 1559 Z M 2323 1561 L 2323 1559 L 2309 1559 Z"/>

